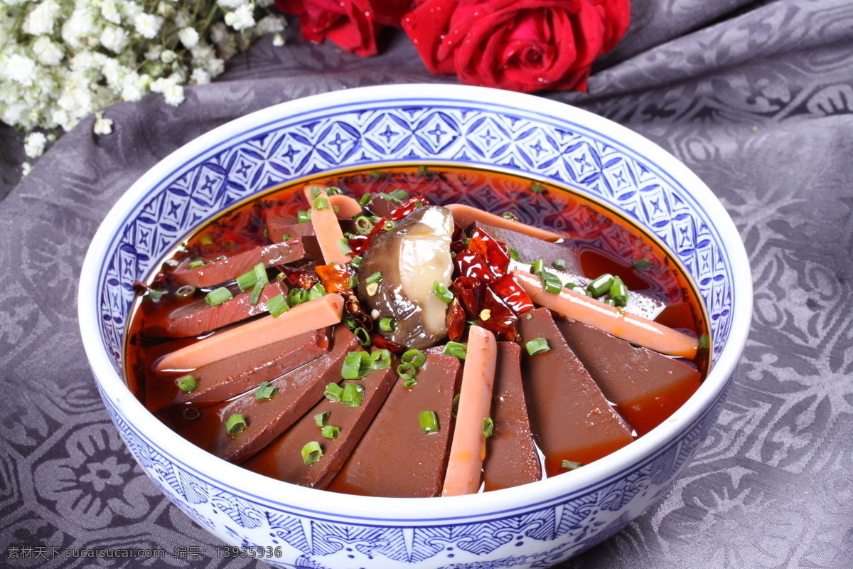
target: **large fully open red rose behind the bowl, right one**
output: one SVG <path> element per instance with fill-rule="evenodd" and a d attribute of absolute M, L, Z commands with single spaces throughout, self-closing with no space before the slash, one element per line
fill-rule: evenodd
<path fill-rule="evenodd" d="M 465 84 L 586 90 L 629 16 L 629 0 L 418 0 L 403 29 L 427 69 Z"/>

